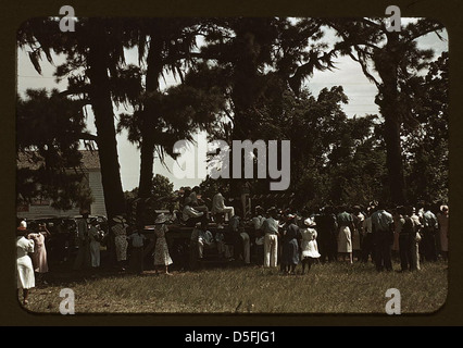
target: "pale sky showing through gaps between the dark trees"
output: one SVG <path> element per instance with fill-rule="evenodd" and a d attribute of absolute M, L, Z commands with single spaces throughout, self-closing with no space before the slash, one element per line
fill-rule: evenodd
<path fill-rule="evenodd" d="M 447 39 L 447 33 L 443 33 L 443 37 Z M 427 35 L 420 40 L 421 48 L 431 48 L 435 50 L 435 57 L 438 57 L 440 52 L 448 51 L 449 42 L 441 41 L 436 34 Z M 59 62 L 60 59 L 53 57 L 54 62 Z M 342 105 L 343 111 L 348 116 L 364 116 L 366 114 L 378 113 L 378 108 L 374 103 L 374 99 L 377 92 L 376 86 L 368 82 L 364 76 L 359 63 L 354 62 L 350 58 L 337 58 L 335 60 L 337 69 L 334 71 L 318 72 L 309 78 L 308 87 L 314 96 L 327 87 L 342 86 L 345 94 L 349 98 L 349 103 Z M 138 57 L 128 52 L 127 63 L 138 63 Z M 27 53 L 18 50 L 17 52 L 17 92 L 23 96 L 27 88 L 57 88 L 59 90 L 65 90 L 66 82 L 57 84 L 53 77 L 54 66 L 46 59 L 41 61 L 42 74 L 38 74 L 33 64 L 30 63 Z M 171 76 L 166 77 L 166 85 L 176 84 L 177 82 Z M 96 127 L 93 124 L 93 116 L 91 108 L 87 108 L 88 120 L 87 128 L 92 134 L 96 134 Z M 124 109 L 114 110 L 115 115 L 123 112 L 127 112 Z M 125 132 L 117 136 L 117 150 L 121 164 L 121 179 L 124 190 L 132 190 L 138 187 L 139 182 L 139 167 L 140 167 L 140 154 L 139 150 L 135 145 L 132 145 L 127 140 Z M 176 165 L 172 159 L 166 160 L 166 167 L 161 165 L 159 160 L 154 162 L 154 174 L 161 174 L 171 179 L 174 184 L 174 189 L 178 189 L 182 186 L 195 186 L 201 183 L 201 179 L 178 179 L 173 175 L 173 165 Z"/>

